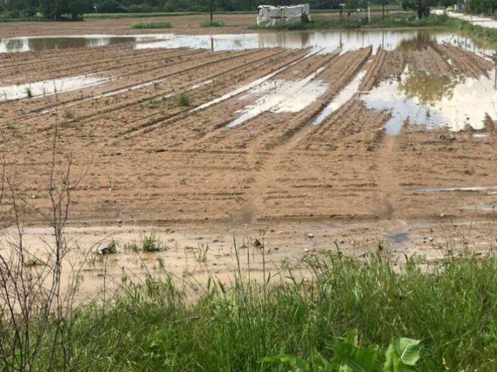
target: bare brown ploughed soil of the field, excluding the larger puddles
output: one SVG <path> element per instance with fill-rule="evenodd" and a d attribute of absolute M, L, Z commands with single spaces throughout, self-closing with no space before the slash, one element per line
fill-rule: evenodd
<path fill-rule="evenodd" d="M 163 254 L 174 256 L 167 256 L 168 267 L 178 274 L 190 268 L 185 262 L 197 267 L 192 252 L 209 244 L 213 256 L 200 275 L 228 275 L 233 236 L 261 241 L 263 233 L 275 261 L 336 248 L 334 242 L 364 253 L 381 241 L 392 254 L 429 259 L 451 247 L 467 249 L 468 242 L 488 251 L 495 245 L 497 112 L 486 112 L 479 129 L 428 129 L 406 119 L 399 133 L 388 134 L 391 112 L 370 109 L 361 97 L 396 84 L 406 66 L 457 84 L 493 73 L 481 56 L 435 42 L 342 53 L 111 45 L 0 55 L 2 86 L 90 73 L 104 79 L 57 94 L 0 97 L 9 177 L 2 223 L 15 222 L 17 207 L 31 226 L 29 239 L 50 236 L 36 226 L 49 216 L 56 136 L 52 190 L 70 185 L 72 237 L 89 247 L 109 236 L 129 241 L 157 231 L 174 248 Z M 351 98 L 312 125 L 359 74 Z M 285 108 L 287 99 L 229 127 L 254 103 L 278 94 L 305 102 L 310 84 L 319 94 L 300 109 Z M 71 177 L 60 183 L 69 162 Z M 141 270 L 131 253 L 113 259 L 119 270 Z"/>

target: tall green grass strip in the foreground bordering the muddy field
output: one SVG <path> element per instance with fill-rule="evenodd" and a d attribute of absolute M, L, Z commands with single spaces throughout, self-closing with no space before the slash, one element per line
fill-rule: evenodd
<path fill-rule="evenodd" d="M 436 266 L 411 258 L 400 270 L 381 256 L 325 253 L 305 257 L 297 271 L 271 266 L 271 279 L 264 275 L 264 284 L 246 274 L 229 286 L 210 280 L 195 301 L 170 276 L 124 276 L 105 310 L 96 301 L 72 313 L 65 352 L 75 370 L 275 371 L 261 358 L 318 352 L 329 360 L 327 345 L 357 329 L 359 345 L 383 350 L 398 337 L 419 339 L 418 371 L 496 370 L 496 256 Z M 47 369 L 50 346 L 40 348 L 34 370 Z"/>

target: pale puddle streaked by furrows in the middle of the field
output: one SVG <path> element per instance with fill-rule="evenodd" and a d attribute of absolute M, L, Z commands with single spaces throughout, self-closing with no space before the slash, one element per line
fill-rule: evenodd
<path fill-rule="evenodd" d="M 249 94 L 240 99 L 253 96 L 258 97 L 256 102 L 246 106 L 243 114 L 231 121 L 227 127 L 239 126 L 245 121 L 253 119 L 265 111 L 298 112 L 305 109 L 328 89 L 329 84 L 316 79 L 324 67 L 316 70 L 303 79 L 270 80 L 264 82 Z"/>

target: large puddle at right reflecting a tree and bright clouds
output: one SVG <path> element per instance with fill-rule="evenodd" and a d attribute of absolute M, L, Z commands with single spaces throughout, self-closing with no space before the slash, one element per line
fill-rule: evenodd
<path fill-rule="evenodd" d="M 484 128 L 486 114 L 497 117 L 495 72 L 489 77 L 448 77 L 430 75 L 406 67 L 398 79 L 381 82 L 361 95 L 369 109 L 387 110 L 389 134 L 400 132 L 405 121 L 427 128 L 447 126 L 461 131 L 466 125 Z"/>

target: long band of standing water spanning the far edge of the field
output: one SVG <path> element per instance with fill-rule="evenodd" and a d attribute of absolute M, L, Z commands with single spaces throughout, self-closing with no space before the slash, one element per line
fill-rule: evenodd
<path fill-rule="evenodd" d="M 244 50 L 258 48 L 318 48 L 321 53 L 342 53 L 371 45 L 394 50 L 417 38 L 430 38 L 479 54 L 491 55 L 484 44 L 457 33 L 439 30 L 350 30 L 350 31 L 275 31 L 221 35 L 176 35 L 156 33 L 143 35 L 48 35 L 23 38 L 0 38 L 0 53 L 48 49 L 87 48 L 122 43 L 136 43 L 137 49 L 196 48 L 211 50 Z"/>

